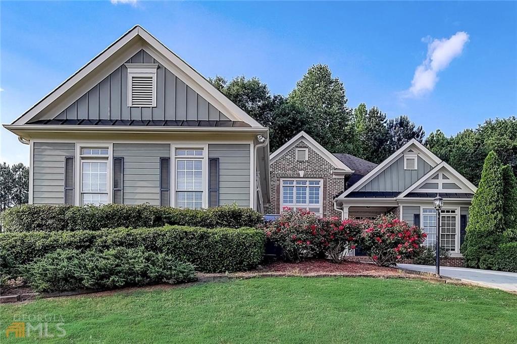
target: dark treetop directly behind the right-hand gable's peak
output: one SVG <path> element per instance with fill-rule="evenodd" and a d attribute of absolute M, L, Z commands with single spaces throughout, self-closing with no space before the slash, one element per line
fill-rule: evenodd
<path fill-rule="evenodd" d="M 409 140 L 416 139 L 422 143 L 425 136 L 422 126 L 417 127 L 405 115 L 388 120 L 386 128 L 388 130 L 388 149 L 390 154 L 404 146 Z"/>

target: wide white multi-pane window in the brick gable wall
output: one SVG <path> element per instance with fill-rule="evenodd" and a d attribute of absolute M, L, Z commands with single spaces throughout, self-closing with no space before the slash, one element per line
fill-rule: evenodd
<path fill-rule="evenodd" d="M 282 179 L 281 184 L 280 211 L 284 207 L 290 207 L 323 214 L 323 180 Z"/>

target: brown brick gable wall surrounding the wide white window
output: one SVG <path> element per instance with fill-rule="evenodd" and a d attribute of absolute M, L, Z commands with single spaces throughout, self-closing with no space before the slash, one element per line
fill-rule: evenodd
<path fill-rule="evenodd" d="M 308 149 L 307 161 L 296 160 L 296 148 Z M 332 175 L 334 169 L 335 167 L 325 158 L 314 151 L 303 140 L 300 141 L 296 146 L 270 164 L 271 202 L 265 207 L 265 213 L 280 213 L 280 180 L 282 178 L 318 178 L 323 180 L 323 216 L 341 217 L 341 212 L 334 209 L 333 199 L 343 192 L 344 179 L 334 178 Z M 303 171 L 303 177 L 300 176 L 300 171 Z"/>

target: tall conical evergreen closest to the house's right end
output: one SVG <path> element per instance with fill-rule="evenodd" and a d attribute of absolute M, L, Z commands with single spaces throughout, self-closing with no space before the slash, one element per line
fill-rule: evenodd
<path fill-rule="evenodd" d="M 503 168 L 494 151 L 486 157 L 478 190 L 469 209 L 465 242 L 461 247 L 467 267 L 478 268 L 499 245 L 504 231 Z"/>

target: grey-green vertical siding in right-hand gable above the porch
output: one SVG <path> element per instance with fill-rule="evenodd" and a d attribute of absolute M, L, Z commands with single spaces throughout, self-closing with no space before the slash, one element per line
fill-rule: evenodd
<path fill-rule="evenodd" d="M 359 191 L 404 191 L 427 174 L 433 166 L 418 157 L 416 170 L 404 169 L 404 157 L 387 166 Z"/>

